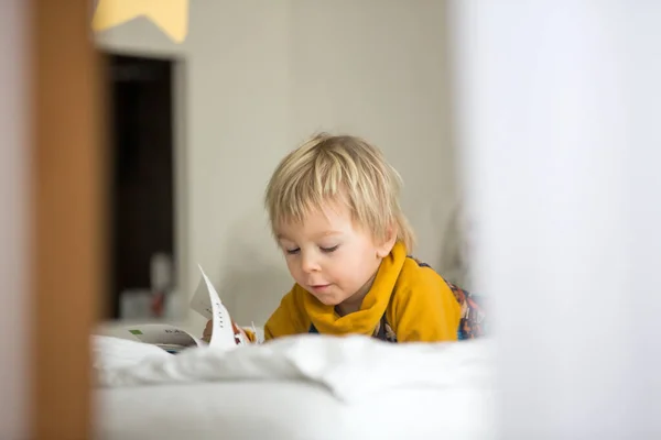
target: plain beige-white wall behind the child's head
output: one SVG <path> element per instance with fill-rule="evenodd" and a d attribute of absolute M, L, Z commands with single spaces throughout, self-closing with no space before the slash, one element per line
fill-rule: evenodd
<path fill-rule="evenodd" d="M 180 235 L 188 292 L 201 263 L 241 323 L 268 318 L 292 282 L 263 190 L 277 162 L 315 130 L 359 134 L 386 151 L 407 184 L 418 255 L 440 264 L 455 191 L 443 2 L 196 0 L 189 30 L 178 46 L 142 19 L 98 35 L 101 47 L 186 62 Z"/>

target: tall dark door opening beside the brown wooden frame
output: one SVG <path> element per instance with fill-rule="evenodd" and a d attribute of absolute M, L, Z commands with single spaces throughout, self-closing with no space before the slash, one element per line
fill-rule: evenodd
<path fill-rule="evenodd" d="M 121 319 L 126 317 L 122 316 L 126 315 L 122 300 L 127 295 L 153 294 L 155 288 L 169 289 L 175 283 L 174 263 L 167 266 L 165 282 L 163 274 L 160 280 L 153 279 L 155 256 L 161 262 L 163 258 L 175 261 L 175 62 L 118 54 L 106 54 L 106 61 L 111 106 L 110 298 L 107 309 L 108 318 Z M 131 315 L 141 318 L 160 314 L 153 308 L 149 312 L 134 311 Z"/>

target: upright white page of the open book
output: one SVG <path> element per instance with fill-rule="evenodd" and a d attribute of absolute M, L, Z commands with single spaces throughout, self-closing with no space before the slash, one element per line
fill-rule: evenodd
<path fill-rule="evenodd" d="M 206 319 L 213 320 L 214 332 L 209 341 L 209 346 L 221 349 L 236 348 L 237 341 L 235 340 L 235 331 L 229 311 L 223 305 L 218 293 L 204 273 L 202 266 L 198 265 L 197 267 L 199 267 L 202 278 L 197 285 L 197 289 L 195 289 L 195 295 L 191 299 L 191 308 Z"/>

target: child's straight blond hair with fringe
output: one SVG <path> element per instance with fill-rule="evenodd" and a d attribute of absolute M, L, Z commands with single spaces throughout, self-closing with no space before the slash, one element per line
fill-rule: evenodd
<path fill-rule="evenodd" d="M 399 202 L 402 178 L 379 148 L 360 138 L 314 135 L 278 165 L 266 193 L 271 228 L 303 222 L 325 204 L 345 202 L 354 221 L 375 240 L 386 241 L 392 229 L 408 251 L 414 234 Z"/>

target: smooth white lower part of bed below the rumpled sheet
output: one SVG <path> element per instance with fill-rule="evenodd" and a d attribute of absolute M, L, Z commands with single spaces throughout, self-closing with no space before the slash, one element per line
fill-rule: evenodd
<path fill-rule="evenodd" d="M 102 388 L 98 440 L 487 440 L 492 394 L 397 389 L 346 405 L 301 382 Z"/>

